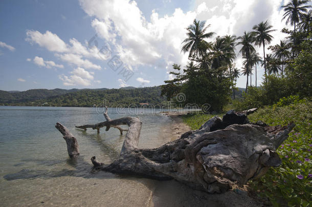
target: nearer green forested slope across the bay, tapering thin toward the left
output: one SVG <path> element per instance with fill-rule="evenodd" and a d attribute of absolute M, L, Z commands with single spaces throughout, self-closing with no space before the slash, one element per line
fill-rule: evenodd
<path fill-rule="evenodd" d="M 77 106 L 92 107 L 94 104 L 116 107 L 118 105 L 136 105 L 140 103 L 149 103 L 155 107 L 164 105 L 165 99 L 160 95 L 160 86 L 133 88 L 133 89 L 82 89 L 72 93 L 52 96 L 49 98 L 28 99 L 30 101 L 18 100 L 14 102 L 5 102 L 6 105 L 19 106 Z M 15 93 L 14 93 L 15 94 Z M 45 103 L 45 104 L 44 104 Z"/>

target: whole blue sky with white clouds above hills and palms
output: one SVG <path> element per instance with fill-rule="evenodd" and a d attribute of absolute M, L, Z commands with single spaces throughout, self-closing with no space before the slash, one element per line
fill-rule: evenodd
<path fill-rule="evenodd" d="M 161 85 L 172 78 L 168 72 L 173 63 L 187 62 L 187 54 L 180 53 L 181 42 L 194 18 L 207 20 L 210 31 L 220 36 L 239 36 L 269 19 L 277 29 L 272 42 L 276 44 L 284 37 L 279 32 L 285 27 L 279 11 L 282 3 L 2 0 L 0 89 Z M 262 48 L 257 50 L 262 56 Z M 241 62 L 238 56 L 238 68 Z M 257 74 L 259 85 L 260 66 Z M 245 81 L 239 78 L 237 86 L 244 87 Z"/>

